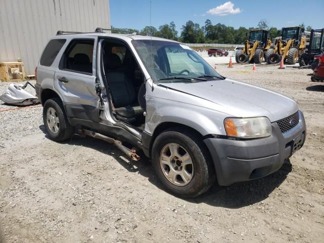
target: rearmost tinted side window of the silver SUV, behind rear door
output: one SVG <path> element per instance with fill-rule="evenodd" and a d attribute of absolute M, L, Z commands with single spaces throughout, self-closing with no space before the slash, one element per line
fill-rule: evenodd
<path fill-rule="evenodd" d="M 39 63 L 42 66 L 51 66 L 65 42 L 66 39 L 51 39 L 47 44 Z"/>

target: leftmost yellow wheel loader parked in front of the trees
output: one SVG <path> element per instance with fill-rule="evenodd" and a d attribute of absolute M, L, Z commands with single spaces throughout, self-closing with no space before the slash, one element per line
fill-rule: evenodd
<path fill-rule="evenodd" d="M 250 36 L 244 47 L 237 50 L 235 61 L 237 63 L 262 63 L 264 53 L 271 47 L 269 31 L 265 29 L 250 30 Z M 267 60 L 266 60 L 267 61 Z"/>

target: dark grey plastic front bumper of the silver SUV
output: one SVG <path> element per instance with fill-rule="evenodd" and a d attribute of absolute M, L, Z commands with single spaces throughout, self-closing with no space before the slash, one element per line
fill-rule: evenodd
<path fill-rule="evenodd" d="M 267 176 L 280 169 L 285 159 L 303 146 L 306 126 L 301 111 L 299 124 L 285 136 L 276 123 L 271 125 L 272 134 L 267 138 L 204 140 L 212 155 L 220 185 L 227 186 Z"/>

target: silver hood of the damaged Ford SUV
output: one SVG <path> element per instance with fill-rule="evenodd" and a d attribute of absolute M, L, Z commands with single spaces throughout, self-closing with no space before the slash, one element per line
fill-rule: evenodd
<path fill-rule="evenodd" d="M 298 111 L 297 103 L 284 95 L 228 78 L 163 85 L 216 103 L 222 107 L 219 111 L 235 117 L 266 116 L 273 122 Z"/>

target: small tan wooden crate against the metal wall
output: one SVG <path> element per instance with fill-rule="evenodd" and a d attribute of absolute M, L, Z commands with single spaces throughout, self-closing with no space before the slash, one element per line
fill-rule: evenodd
<path fill-rule="evenodd" d="M 0 80 L 19 81 L 25 79 L 24 63 L 0 62 Z"/>

